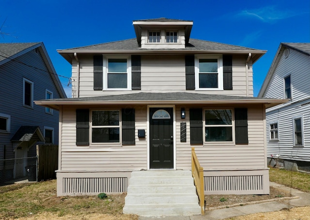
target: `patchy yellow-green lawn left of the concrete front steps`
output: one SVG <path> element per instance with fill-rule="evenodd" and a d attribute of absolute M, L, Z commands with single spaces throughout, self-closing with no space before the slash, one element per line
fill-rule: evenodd
<path fill-rule="evenodd" d="M 25 186 L 0 196 L 0 219 L 137 220 L 124 215 L 125 193 L 97 196 L 56 196 L 56 180 Z"/>

